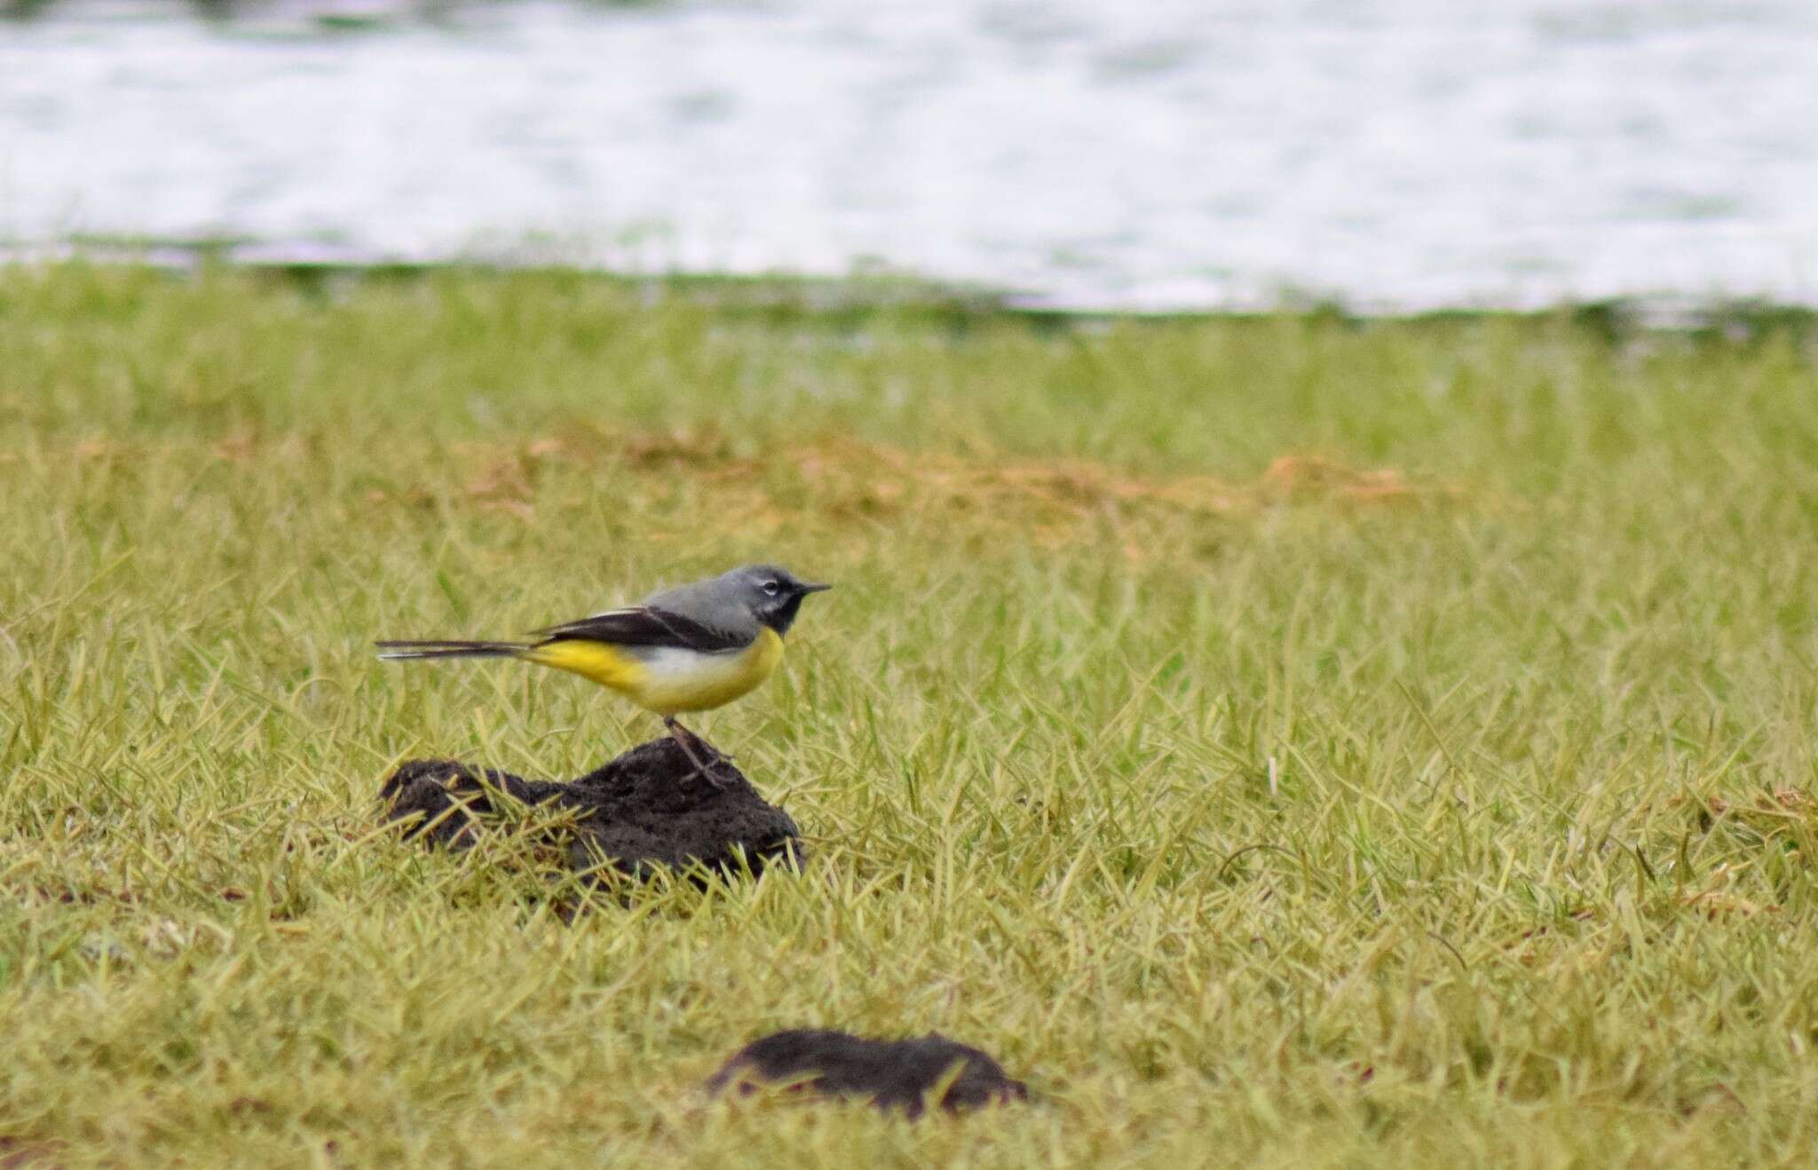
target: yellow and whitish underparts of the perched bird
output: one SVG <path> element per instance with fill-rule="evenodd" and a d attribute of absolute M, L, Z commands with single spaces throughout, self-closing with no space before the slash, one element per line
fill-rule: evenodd
<path fill-rule="evenodd" d="M 656 649 L 633 654 L 605 641 L 551 641 L 524 652 L 527 661 L 611 687 L 660 716 L 711 710 L 767 679 L 784 659 L 784 640 L 765 627 L 744 650 Z"/>

